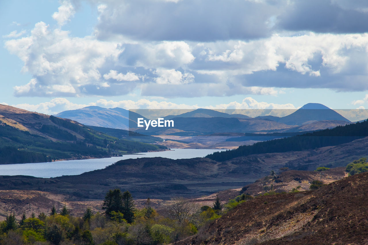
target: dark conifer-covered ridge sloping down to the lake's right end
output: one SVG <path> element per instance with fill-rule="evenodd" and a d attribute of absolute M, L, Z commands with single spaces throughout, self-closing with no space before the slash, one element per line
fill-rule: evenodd
<path fill-rule="evenodd" d="M 324 146 L 339 145 L 368 136 L 368 121 L 338 126 L 332 129 L 296 135 L 289 138 L 273 139 L 258 142 L 254 145 L 243 145 L 237 149 L 215 152 L 206 157 L 215 161 L 226 161 L 240 156 L 252 154 L 289 152 L 315 149 Z"/>

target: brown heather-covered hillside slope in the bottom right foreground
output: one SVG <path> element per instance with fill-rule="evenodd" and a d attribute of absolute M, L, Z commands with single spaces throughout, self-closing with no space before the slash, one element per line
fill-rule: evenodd
<path fill-rule="evenodd" d="M 368 173 L 316 191 L 259 196 L 177 244 L 367 244 Z"/>

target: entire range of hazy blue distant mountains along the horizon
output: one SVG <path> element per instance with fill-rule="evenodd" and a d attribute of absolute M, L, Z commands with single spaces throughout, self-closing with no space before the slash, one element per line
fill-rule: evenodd
<path fill-rule="evenodd" d="M 197 109 L 179 115 L 165 116 L 165 120 L 174 120 L 174 127 L 145 128 L 137 127 L 137 118 L 146 118 L 121 108 L 106 109 L 97 106 L 78 110 L 63 111 L 57 117 L 70 118 L 85 125 L 107 128 L 130 128 L 142 134 L 195 136 L 219 132 L 300 132 L 351 123 L 336 111 L 318 103 L 308 103 L 285 117 L 259 116 L 251 118 L 242 114 L 228 114 L 209 109 Z M 305 126 L 308 125 L 308 126 Z M 173 129 L 175 129 L 173 131 Z"/>

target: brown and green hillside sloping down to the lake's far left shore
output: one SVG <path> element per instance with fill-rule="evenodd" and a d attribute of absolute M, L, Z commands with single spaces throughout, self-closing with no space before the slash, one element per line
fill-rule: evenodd
<path fill-rule="evenodd" d="M 70 119 L 0 104 L 0 164 L 109 157 L 166 149 L 95 131 Z"/>

